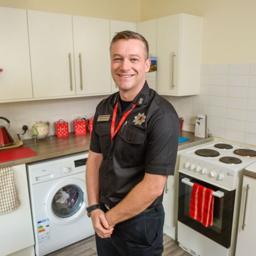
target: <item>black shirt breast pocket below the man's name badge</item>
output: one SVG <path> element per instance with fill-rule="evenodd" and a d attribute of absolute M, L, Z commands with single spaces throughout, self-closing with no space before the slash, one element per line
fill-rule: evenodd
<path fill-rule="evenodd" d="M 103 156 L 106 156 L 109 152 L 111 144 L 110 139 L 110 122 L 99 122 L 95 126 L 95 132 L 99 136 L 100 148 Z"/>

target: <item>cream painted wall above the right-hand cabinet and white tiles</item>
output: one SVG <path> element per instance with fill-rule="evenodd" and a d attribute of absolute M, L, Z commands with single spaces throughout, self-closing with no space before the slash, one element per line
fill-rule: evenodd
<path fill-rule="evenodd" d="M 141 21 L 180 12 L 204 17 L 202 64 L 255 62 L 256 0 L 141 0 Z"/>

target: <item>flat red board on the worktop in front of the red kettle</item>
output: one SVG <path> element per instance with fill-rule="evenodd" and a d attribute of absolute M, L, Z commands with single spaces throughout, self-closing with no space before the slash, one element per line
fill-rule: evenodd
<path fill-rule="evenodd" d="M 0 151 L 0 162 L 12 161 L 19 158 L 25 158 L 30 156 L 36 156 L 37 153 L 34 152 L 29 147 L 18 147 L 12 149 L 6 149 Z"/>

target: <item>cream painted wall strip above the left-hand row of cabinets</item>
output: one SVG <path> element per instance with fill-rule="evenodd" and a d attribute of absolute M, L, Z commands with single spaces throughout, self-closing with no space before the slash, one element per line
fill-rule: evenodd
<path fill-rule="evenodd" d="M 140 21 L 140 0 L 0 0 L 0 6 L 102 19 Z"/>

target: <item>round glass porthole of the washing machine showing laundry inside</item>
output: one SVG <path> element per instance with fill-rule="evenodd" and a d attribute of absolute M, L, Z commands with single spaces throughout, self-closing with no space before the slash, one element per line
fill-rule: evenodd
<path fill-rule="evenodd" d="M 54 195 L 52 210 L 61 218 L 67 218 L 75 214 L 83 203 L 83 191 L 76 185 L 66 185 Z"/>

